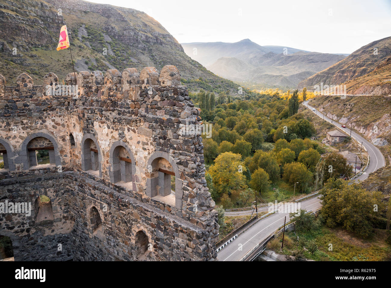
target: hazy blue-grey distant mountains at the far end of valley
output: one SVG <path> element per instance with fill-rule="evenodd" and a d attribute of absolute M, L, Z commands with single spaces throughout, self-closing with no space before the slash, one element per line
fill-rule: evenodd
<path fill-rule="evenodd" d="M 181 45 L 188 56 L 221 77 L 282 88 L 295 88 L 302 80 L 345 57 L 292 47 L 261 46 L 249 39 Z"/>

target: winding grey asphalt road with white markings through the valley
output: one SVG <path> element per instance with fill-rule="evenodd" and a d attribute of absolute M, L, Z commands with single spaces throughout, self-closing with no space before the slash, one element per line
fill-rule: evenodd
<path fill-rule="evenodd" d="M 304 101 L 303 105 L 308 107 L 311 111 L 313 107 L 308 105 L 308 101 Z M 317 116 L 323 118 L 323 114 L 317 110 L 312 111 Z M 331 119 L 325 116 L 325 121 L 331 123 Z M 350 129 L 342 128 L 341 124 L 333 121 L 332 123 L 336 127 L 341 128 L 346 132 L 347 135 L 350 134 Z M 380 152 L 375 145 L 364 139 L 359 134 L 353 132 L 352 130 L 352 138 L 356 139 L 365 147 L 369 154 L 369 165 L 361 176 L 356 178 L 358 180 L 364 180 L 368 177 L 368 175 L 378 168 L 385 166 L 386 161 L 384 159 L 383 154 Z M 315 211 L 321 207 L 319 197 L 314 197 L 311 199 L 307 199 L 305 201 L 300 202 L 300 208 L 305 209 L 307 211 Z M 219 261 L 240 261 L 250 250 L 252 250 L 256 245 L 264 241 L 270 234 L 275 232 L 278 227 L 284 224 L 284 217 L 288 216 L 289 213 L 274 213 L 264 219 L 260 219 L 256 221 L 252 226 L 248 228 L 245 232 L 240 234 L 235 240 L 233 240 L 230 244 L 222 248 L 218 253 L 217 257 Z M 287 219 L 288 220 L 288 219 Z"/>

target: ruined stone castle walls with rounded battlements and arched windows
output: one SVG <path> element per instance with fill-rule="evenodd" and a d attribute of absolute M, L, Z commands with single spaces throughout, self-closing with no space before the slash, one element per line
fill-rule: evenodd
<path fill-rule="evenodd" d="M 32 207 L 0 210 L 15 260 L 215 260 L 202 138 L 181 131 L 201 118 L 178 69 L 76 78 L 23 73 L 11 87 L 0 74 L 0 203 Z"/>

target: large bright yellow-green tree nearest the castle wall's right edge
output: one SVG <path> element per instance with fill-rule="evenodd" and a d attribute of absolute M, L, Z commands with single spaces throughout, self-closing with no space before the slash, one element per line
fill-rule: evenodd
<path fill-rule="evenodd" d="M 217 193 L 231 194 L 235 188 L 244 188 L 246 186 L 246 177 L 243 171 L 246 170 L 240 154 L 224 152 L 217 156 L 214 164 L 209 168 L 209 173 L 213 178 L 213 186 Z M 242 172 L 239 172 L 239 171 Z"/>

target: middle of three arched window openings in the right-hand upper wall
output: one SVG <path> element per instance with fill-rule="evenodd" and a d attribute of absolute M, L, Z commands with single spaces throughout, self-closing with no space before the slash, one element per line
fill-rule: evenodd
<path fill-rule="evenodd" d="M 132 188 L 132 160 L 124 146 L 117 146 L 113 152 L 113 182 Z"/>

